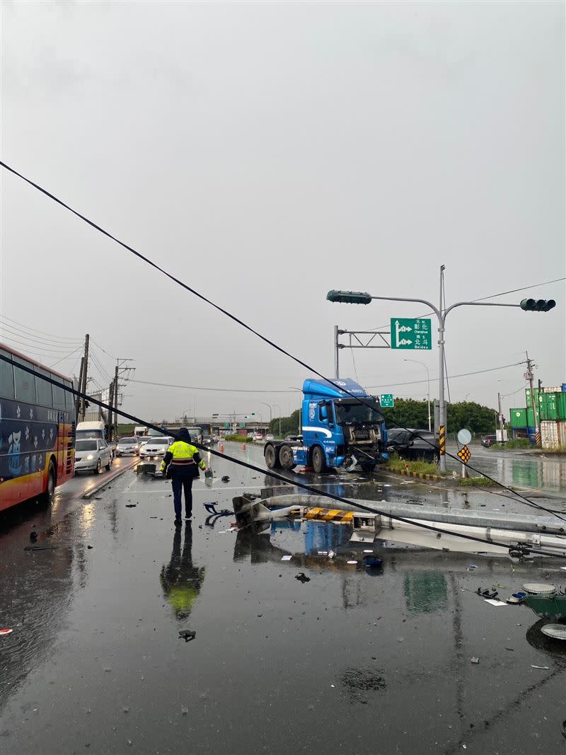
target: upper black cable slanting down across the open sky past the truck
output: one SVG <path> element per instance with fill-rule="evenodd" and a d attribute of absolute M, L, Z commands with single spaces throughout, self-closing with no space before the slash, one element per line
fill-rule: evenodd
<path fill-rule="evenodd" d="M 186 284 L 185 282 L 183 282 L 182 280 L 180 280 L 179 278 L 177 278 L 176 276 L 174 276 L 172 273 L 169 273 L 167 270 L 165 270 L 165 268 L 160 267 L 157 263 L 155 263 L 153 260 L 149 259 L 149 257 L 146 257 L 140 251 L 137 251 L 136 249 L 134 249 L 133 247 L 129 246 L 125 242 L 122 242 L 120 239 L 117 239 L 115 236 L 112 236 L 112 234 L 109 233 L 109 231 L 104 230 L 102 227 L 100 227 L 99 225 L 97 225 L 97 223 L 94 223 L 93 220 L 89 220 L 88 217 L 85 217 L 85 215 L 82 215 L 81 213 L 79 213 L 78 211 L 74 210 L 69 205 L 66 205 L 66 203 L 63 202 L 63 200 L 58 199 L 57 196 L 54 196 L 54 194 L 51 194 L 50 192 L 48 192 L 48 190 L 44 189 L 42 186 L 39 186 L 38 183 L 34 183 L 31 179 L 26 178 L 25 176 L 23 176 L 23 174 L 20 174 L 18 171 L 16 171 L 14 168 L 11 168 L 9 165 L 7 165 L 3 161 L 0 161 L 0 166 L 2 166 L 2 168 L 5 168 L 6 170 L 8 170 L 9 172 L 11 172 L 15 176 L 21 178 L 26 183 L 29 183 L 30 186 L 33 186 L 36 190 L 38 190 L 42 194 L 45 194 L 45 196 L 48 196 L 48 198 L 51 199 L 53 202 L 56 202 L 57 205 L 60 205 L 61 207 L 66 208 L 66 210 L 68 210 L 69 212 L 71 212 L 72 214 L 74 214 L 76 217 L 80 218 L 85 223 L 88 223 L 88 225 L 91 226 L 92 228 L 94 228 L 94 230 L 97 230 L 103 236 L 106 236 L 106 238 L 112 239 L 112 241 L 114 241 L 118 245 L 122 246 L 122 248 L 125 248 L 131 254 L 134 254 L 135 257 L 137 257 L 139 260 L 142 260 L 143 262 L 145 262 L 146 264 L 148 264 L 150 267 L 154 268 L 154 270 L 158 270 L 159 273 L 162 273 L 165 277 L 167 277 L 168 279 L 170 279 L 174 283 L 177 283 L 177 285 L 179 285 L 181 288 L 184 288 L 185 291 L 189 291 L 190 294 L 193 294 L 193 296 L 195 296 L 198 299 L 200 299 L 201 301 L 205 302 L 205 304 L 209 304 L 215 310 L 217 310 L 218 312 L 222 313 L 223 315 L 225 315 L 226 317 L 228 317 L 229 319 L 231 319 L 236 324 L 241 325 L 242 328 L 245 328 L 245 330 L 251 332 L 252 334 L 254 334 L 255 336 L 257 336 L 258 338 L 260 338 L 261 341 L 263 341 L 264 343 L 268 344 L 273 349 L 277 350 L 279 353 L 283 354 L 284 356 L 288 356 L 289 359 L 292 359 L 294 362 L 297 362 L 297 364 L 301 365 L 306 370 L 309 370 L 312 373 L 318 375 L 318 377 L 321 377 L 322 380 L 328 382 L 329 384 L 333 384 L 333 381 L 331 381 L 330 378 L 326 377 L 324 374 L 322 374 L 321 372 L 319 372 L 318 370 L 316 370 L 315 368 L 313 368 L 307 362 L 304 362 L 303 359 L 300 359 L 298 356 L 294 356 L 294 354 L 291 354 L 289 351 L 285 350 L 283 347 L 279 346 L 278 344 L 275 344 L 275 341 L 271 341 L 268 337 L 264 336 L 259 331 L 257 331 L 254 328 L 252 328 L 251 325 L 248 325 L 248 323 L 244 322 L 243 320 L 241 320 L 237 316 L 233 315 L 231 312 L 229 312 L 228 310 L 226 310 L 224 307 L 221 307 L 220 304 L 216 304 L 213 300 L 211 300 L 208 297 L 206 297 L 205 294 L 201 294 L 200 291 L 197 291 L 195 288 L 192 288 L 192 286 L 189 286 L 188 284 Z M 343 390 L 343 393 L 346 393 L 346 395 L 350 396 L 352 399 L 355 399 L 358 403 L 360 403 L 362 405 L 365 405 L 365 406 L 368 406 L 368 408 L 372 408 L 372 409 L 374 408 L 373 405 L 371 405 L 370 403 L 368 403 L 367 401 L 365 401 L 364 399 L 362 399 L 360 396 L 355 396 L 355 394 L 351 393 L 349 390 L 344 390 L 344 389 L 342 389 L 342 390 Z M 402 425 L 399 425 L 398 423 L 393 422 L 392 424 L 395 424 L 396 427 L 401 427 L 401 429 L 406 430 L 405 427 L 402 427 Z M 430 442 L 428 439 L 425 439 L 425 438 L 423 438 L 423 439 L 426 442 L 428 442 L 429 445 L 432 445 L 432 447 L 434 447 L 434 444 L 432 442 Z M 457 457 L 455 457 L 454 455 L 451 455 L 449 453 L 446 453 L 446 456 L 448 456 L 449 458 L 453 458 L 455 461 L 460 461 Z M 469 467 L 469 469 L 471 469 L 472 471 L 477 472 L 478 474 L 481 474 L 481 472 L 479 472 L 478 470 L 476 470 L 474 467 L 472 467 L 469 464 L 466 464 L 466 467 Z M 492 482 L 494 482 L 497 485 L 500 485 L 500 487 L 509 490 L 509 488 L 507 487 L 507 485 L 503 485 L 503 482 L 499 482 L 498 480 L 496 480 L 496 479 L 488 476 L 487 474 L 483 474 L 483 476 L 487 477 L 488 479 L 491 479 Z M 528 505 L 528 506 L 535 507 L 535 508 L 538 508 L 540 510 L 548 511 L 544 507 L 541 507 L 538 504 L 534 504 L 533 501 L 529 501 L 528 498 L 526 498 L 524 495 L 521 495 L 521 494 L 518 494 L 518 493 L 515 493 L 515 495 L 517 495 L 518 498 L 520 498 L 521 501 L 524 501 L 524 503 L 526 505 Z M 558 516 L 558 515 L 555 514 L 554 516 Z M 558 517 L 558 518 L 561 518 L 561 517 Z"/>

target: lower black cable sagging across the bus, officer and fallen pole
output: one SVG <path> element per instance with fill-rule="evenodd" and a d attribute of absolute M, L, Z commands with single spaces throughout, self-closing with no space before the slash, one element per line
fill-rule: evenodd
<path fill-rule="evenodd" d="M 11 362 L 11 359 L 9 359 L 7 356 L 4 356 L 2 353 L 0 353 L 0 359 L 2 359 L 2 361 L 4 362 Z M 29 374 L 35 375 L 35 377 L 38 377 L 41 380 L 48 381 L 48 383 L 51 383 L 57 387 L 60 387 L 61 389 L 66 390 L 69 393 L 72 393 L 75 397 L 78 396 L 79 398 L 84 398 L 87 401 L 97 404 L 103 409 L 106 409 L 107 411 L 109 411 L 110 409 L 108 404 L 102 401 L 99 401 L 98 399 L 93 399 L 91 396 L 87 396 L 86 393 L 82 393 L 81 391 L 76 390 L 75 388 L 66 386 L 64 383 L 61 383 L 60 381 L 57 381 L 52 377 L 48 377 L 48 375 L 42 375 L 38 372 L 35 372 L 35 370 L 32 370 L 32 368 L 29 368 L 26 365 L 18 365 L 18 366 L 21 369 L 23 369 L 23 371 L 26 371 Z M 177 433 L 171 432 L 166 427 L 159 427 L 158 425 L 155 425 L 152 422 L 136 417 L 134 414 L 128 414 L 128 412 L 122 411 L 119 408 L 113 408 L 112 411 L 115 411 L 116 414 L 119 414 L 121 417 L 125 417 L 131 422 L 135 422 L 136 424 L 143 424 L 145 425 L 145 427 L 149 427 L 152 430 L 157 430 L 158 433 L 164 433 L 164 434 L 167 434 L 168 436 L 173 436 L 177 440 L 182 439 Z M 214 448 L 209 448 L 208 446 L 202 445 L 201 443 L 195 442 L 193 440 L 191 440 L 191 443 L 199 450 L 205 451 L 218 458 L 225 459 L 226 461 L 230 461 L 232 462 L 232 464 L 237 464 L 238 467 L 245 467 L 246 469 L 253 470 L 254 472 L 259 472 L 260 474 L 269 474 L 269 476 L 272 476 L 275 479 L 279 479 L 281 480 L 281 482 L 285 482 L 285 483 L 291 482 L 291 480 L 288 477 L 285 477 L 284 475 L 276 472 L 275 470 L 262 469 L 261 467 L 257 467 L 256 464 L 251 464 L 251 462 L 249 461 L 244 461 L 243 459 L 237 459 L 233 456 L 222 454 L 220 453 L 220 451 L 214 450 Z M 321 493 L 321 491 L 318 490 L 318 488 L 315 488 L 312 485 L 308 485 L 306 484 L 306 482 L 300 482 L 299 480 L 294 480 L 293 484 L 297 488 L 303 488 L 303 490 L 307 490 L 313 495 L 316 495 L 318 497 L 322 496 L 323 498 L 331 498 L 331 500 L 333 501 L 338 501 L 339 503 L 352 505 L 352 501 L 349 501 L 348 498 L 343 498 L 343 496 L 336 495 L 334 493 L 328 493 L 328 492 Z M 392 514 L 386 511 L 381 511 L 377 509 L 376 507 L 364 506 L 363 504 L 360 504 L 358 501 L 355 502 L 355 506 L 358 507 L 358 509 L 362 511 L 368 511 L 368 513 L 380 514 L 380 516 L 386 516 L 388 519 L 395 519 L 396 522 L 404 522 L 405 524 L 413 525 L 413 526 L 419 527 L 420 529 L 426 529 L 426 530 L 429 530 L 430 532 L 440 533 L 441 535 L 449 535 L 450 537 L 462 538 L 463 540 L 469 540 L 469 541 L 474 541 L 477 543 L 488 544 L 488 545 L 495 545 L 505 550 L 519 549 L 524 553 L 536 553 L 539 556 L 555 556 L 558 558 L 564 557 L 564 556 L 561 556 L 561 554 L 559 553 L 552 553 L 552 551 L 540 550 L 538 548 L 535 549 L 525 544 L 518 544 L 517 546 L 515 545 L 509 546 L 509 544 L 500 543 L 500 542 L 494 541 L 493 539 L 479 538 L 479 537 L 476 537 L 475 535 L 464 535 L 463 533 L 460 533 L 460 532 L 451 532 L 451 530 L 443 529 L 435 525 L 426 525 L 423 522 L 414 521 L 412 519 L 408 519 L 405 516 L 398 516 L 398 514 Z M 561 517 L 558 517 L 558 518 L 561 518 Z"/>

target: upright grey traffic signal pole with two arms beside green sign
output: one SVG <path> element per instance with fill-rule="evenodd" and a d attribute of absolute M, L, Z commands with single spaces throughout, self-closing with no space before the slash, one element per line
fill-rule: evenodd
<path fill-rule="evenodd" d="M 444 331 L 446 329 L 446 318 L 448 313 L 456 307 L 521 307 L 521 310 L 531 312 L 548 312 L 556 306 L 554 299 L 523 299 L 521 304 L 500 304 L 495 301 L 457 301 L 450 307 L 444 307 L 444 265 L 440 266 L 440 305 L 435 307 L 426 299 L 413 299 L 398 296 L 372 296 L 366 291 L 328 291 L 326 298 L 329 301 L 340 302 L 342 304 L 371 304 L 371 300 L 381 301 L 408 301 L 416 304 L 426 304 L 438 318 L 438 359 L 440 370 L 438 374 L 438 427 L 446 432 L 446 402 L 444 401 Z M 440 449 L 440 470 L 446 471 L 446 450 L 445 447 Z"/>

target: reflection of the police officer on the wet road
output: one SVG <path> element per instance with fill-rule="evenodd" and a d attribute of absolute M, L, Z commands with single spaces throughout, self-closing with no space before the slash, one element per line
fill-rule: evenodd
<path fill-rule="evenodd" d="M 161 568 L 159 576 L 165 599 L 178 619 L 185 619 L 190 615 L 205 578 L 205 567 L 198 567 L 192 563 L 191 522 L 185 522 L 184 536 L 181 551 L 181 528 L 176 527 L 171 561 Z"/>

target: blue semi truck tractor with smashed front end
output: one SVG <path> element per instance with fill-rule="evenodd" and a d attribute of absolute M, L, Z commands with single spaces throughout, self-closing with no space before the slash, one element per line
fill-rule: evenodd
<path fill-rule="evenodd" d="M 349 377 L 306 380 L 301 417 L 303 435 L 299 440 L 272 440 L 263 447 L 269 469 L 292 470 L 301 465 L 319 474 L 334 467 L 351 468 L 358 462 L 371 472 L 387 458 L 387 431 L 379 399 Z"/>

